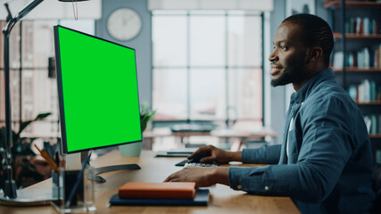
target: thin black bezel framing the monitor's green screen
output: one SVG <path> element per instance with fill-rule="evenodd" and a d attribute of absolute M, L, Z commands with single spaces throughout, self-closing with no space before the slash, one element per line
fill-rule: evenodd
<path fill-rule="evenodd" d="M 87 148 L 87 149 L 82 149 L 82 150 L 76 150 L 76 151 L 68 151 L 68 146 L 67 146 L 67 138 L 66 138 L 66 124 L 65 124 L 65 111 L 64 111 L 64 104 L 63 104 L 63 86 L 62 86 L 62 70 L 61 70 L 61 50 L 60 50 L 60 34 L 58 32 L 58 29 L 69 29 L 73 32 L 82 34 L 87 37 L 93 37 L 99 40 L 102 40 L 107 43 L 111 43 L 113 45 L 119 45 L 128 49 L 131 49 L 134 51 L 135 54 L 135 68 L 136 68 L 136 77 L 137 77 L 137 53 L 135 48 L 131 48 L 127 45 L 120 45 L 118 43 L 112 42 L 110 40 L 101 38 L 101 37 L 95 37 L 93 35 L 81 32 L 76 29 L 70 29 L 67 27 L 64 27 L 62 25 L 54 25 L 54 52 L 55 52 L 55 68 L 56 68 L 56 78 L 57 78 L 57 93 L 58 93 L 58 106 L 59 106 L 59 113 L 60 113 L 60 124 L 61 124 L 61 152 L 62 155 L 65 154 L 70 154 L 70 153 L 76 153 L 76 152 L 87 152 L 90 150 L 95 150 L 95 149 L 102 149 L 102 148 L 107 148 L 107 147 L 112 147 L 116 145 L 122 145 L 122 144 L 134 144 L 138 142 L 143 141 L 143 133 L 140 130 L 140 140 L 137 141 L 131 141 L 131 142 L 124 142 L 120 144 L 109 144 L 109 145 L 104 145 L 104 146 L 98 146 L 98 147 L 93 147 L 93 148 Z M 139 108 L 139 113 L 140 113 L 140 99 L 139 99 L 139 87 L 138 87 L 138 81 L 137 81 L 137 104 Z M 141 127 L 141 119 L 139 117 L 139 126 Z"/>

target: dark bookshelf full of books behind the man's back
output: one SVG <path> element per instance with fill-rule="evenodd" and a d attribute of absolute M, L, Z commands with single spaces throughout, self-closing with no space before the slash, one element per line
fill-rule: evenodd
<path fill-rule="evenodd" d="M 334 31 L 331 67 L 369 127 L 373 157 L 381 150 L 381 2 L 324 1 Z"/>

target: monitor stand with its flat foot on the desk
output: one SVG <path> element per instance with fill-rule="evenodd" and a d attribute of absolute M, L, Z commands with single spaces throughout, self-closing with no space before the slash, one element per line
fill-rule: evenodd
<path fill-rule="evenodd" d="M 88 152 L 68 154 L 68 157 L 66 158 L 66 169 L 80 169 L 81 168 L 80 163 L 86 159 L 87 155 L 88 155 Z M 87 179 L 96 181 L 99 183 L 104 183 L 106 182 L 106 179 L 104 179 L 104 177 L 98 176 L 99 174 L 104 172 L 109 172 L 109 171 L 118 171 L 118 170 L 126 170 L 126 169 L 141 169 L 141 168 L 137 164 L 120 164 L 120 165 L 95 168 L 93 169 L 93 173 L 87 174 Z"/>

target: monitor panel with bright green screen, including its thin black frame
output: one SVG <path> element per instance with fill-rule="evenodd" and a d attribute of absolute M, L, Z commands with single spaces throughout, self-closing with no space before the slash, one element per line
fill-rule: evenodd
<path fill-rule="evenodd" d="M 62 149 L 142 140 L 135 50 L 54 27 Z"/>

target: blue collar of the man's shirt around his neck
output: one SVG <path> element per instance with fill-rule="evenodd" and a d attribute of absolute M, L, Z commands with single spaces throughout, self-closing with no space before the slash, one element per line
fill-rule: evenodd
<path fill-rule="evenodd" d="M 308 95 L 310 95 L 311 90 L 319 85 L 320 82 L 325 81 L 327 79 L 335 78 L 334 71 L 331 68 L 327 68 L 325 70 L 320 70 L 317 74 L 315 74 L 302 88 L 296 93 L 294 92 L 291 95 L 291 103 L 302 103 Z"/>

